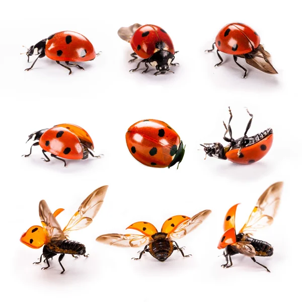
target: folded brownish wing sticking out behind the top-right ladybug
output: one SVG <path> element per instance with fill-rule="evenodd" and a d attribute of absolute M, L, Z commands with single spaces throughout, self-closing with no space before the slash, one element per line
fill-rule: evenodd
<path fill-rule="evenodd" d="M 270 74 L 278 73 L 271 63 L 270 54 L 264 50 L 262 45 L 259 45 L 252 53 L 245 55 L 245 60 L 249 65 L 263 72 Z"/>

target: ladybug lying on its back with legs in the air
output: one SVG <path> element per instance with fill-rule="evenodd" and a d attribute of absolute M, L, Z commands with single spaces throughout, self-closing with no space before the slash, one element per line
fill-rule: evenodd
<path fill-rule="evenodd" d="M 200 144 L 204 147 L 204 152 L 210 157 L 215 157 L 221 160 L 229 160 L 236 164 L 249 165 L 261 160 L 268 152 L 273 143 L 273 130 L 268 128 L 263 132 L 260 132 L 254 136 L 248 137 L 247 132 L 251 127 L 253 115 L 247 110 L 251 119 L 248 122 L 246 131 L 243 137 L 234 139 L 232 136 L 232 129 L 230 122 L 233 118 L 231 109 L 229 107 L 230 120 L 226 129 L 223 139 L 229 142 L 228 145 L 223 147 L 220 142 L 214 142 L 213 144 Z M 230 138 L 226 137 L 226 133 L 230 133 Z"/>

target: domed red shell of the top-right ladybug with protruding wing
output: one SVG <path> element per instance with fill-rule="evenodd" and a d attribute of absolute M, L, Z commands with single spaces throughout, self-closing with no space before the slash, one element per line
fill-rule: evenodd
<path fill-rule="evenodd" d="M 228 54 L 245 54 L 256 49 L 260 37 L 249 26 L 242 23 L 231 23 L 224 26 L 216 36 L 218 50 Z"/>

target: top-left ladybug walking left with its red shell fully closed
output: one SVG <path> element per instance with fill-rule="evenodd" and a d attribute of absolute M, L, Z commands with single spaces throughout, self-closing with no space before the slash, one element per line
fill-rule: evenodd
<path fill-rule="evenodd" d="M 83 35 L 72 32 L 62 31 L 50 35 L 47 39 L 43 39 L 35 45 L 32 45 L 26 52 L 29 62 L 31 55 L 38 55 L 33 64 L 25 70 L 30 70 L 35 65 L 38 58 L 43 58 L 45 55 L 57 64 L 69 70 L 68 66 L 77 66 L 79 69 L 84 70 L 82 66 L 77 63 L 70 64 L 70 62 L 85 62 L 92 61 L 96 57 L 96 52 L 91 42 Z M 65 61 L 66 65 L 60 63 Z"/>

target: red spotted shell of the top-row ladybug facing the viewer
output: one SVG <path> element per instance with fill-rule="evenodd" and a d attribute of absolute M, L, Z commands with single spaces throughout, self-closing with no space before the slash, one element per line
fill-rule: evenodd
<path fill-rule="evenodd" d="M 159 49 L 157 43 L 164 42 L 164 49 L 175 54 L 173 42 L 165 30 L 156 25 L 142 25 L 130 39 L 133 51 L 143 59 L 152 56 Z"/>

